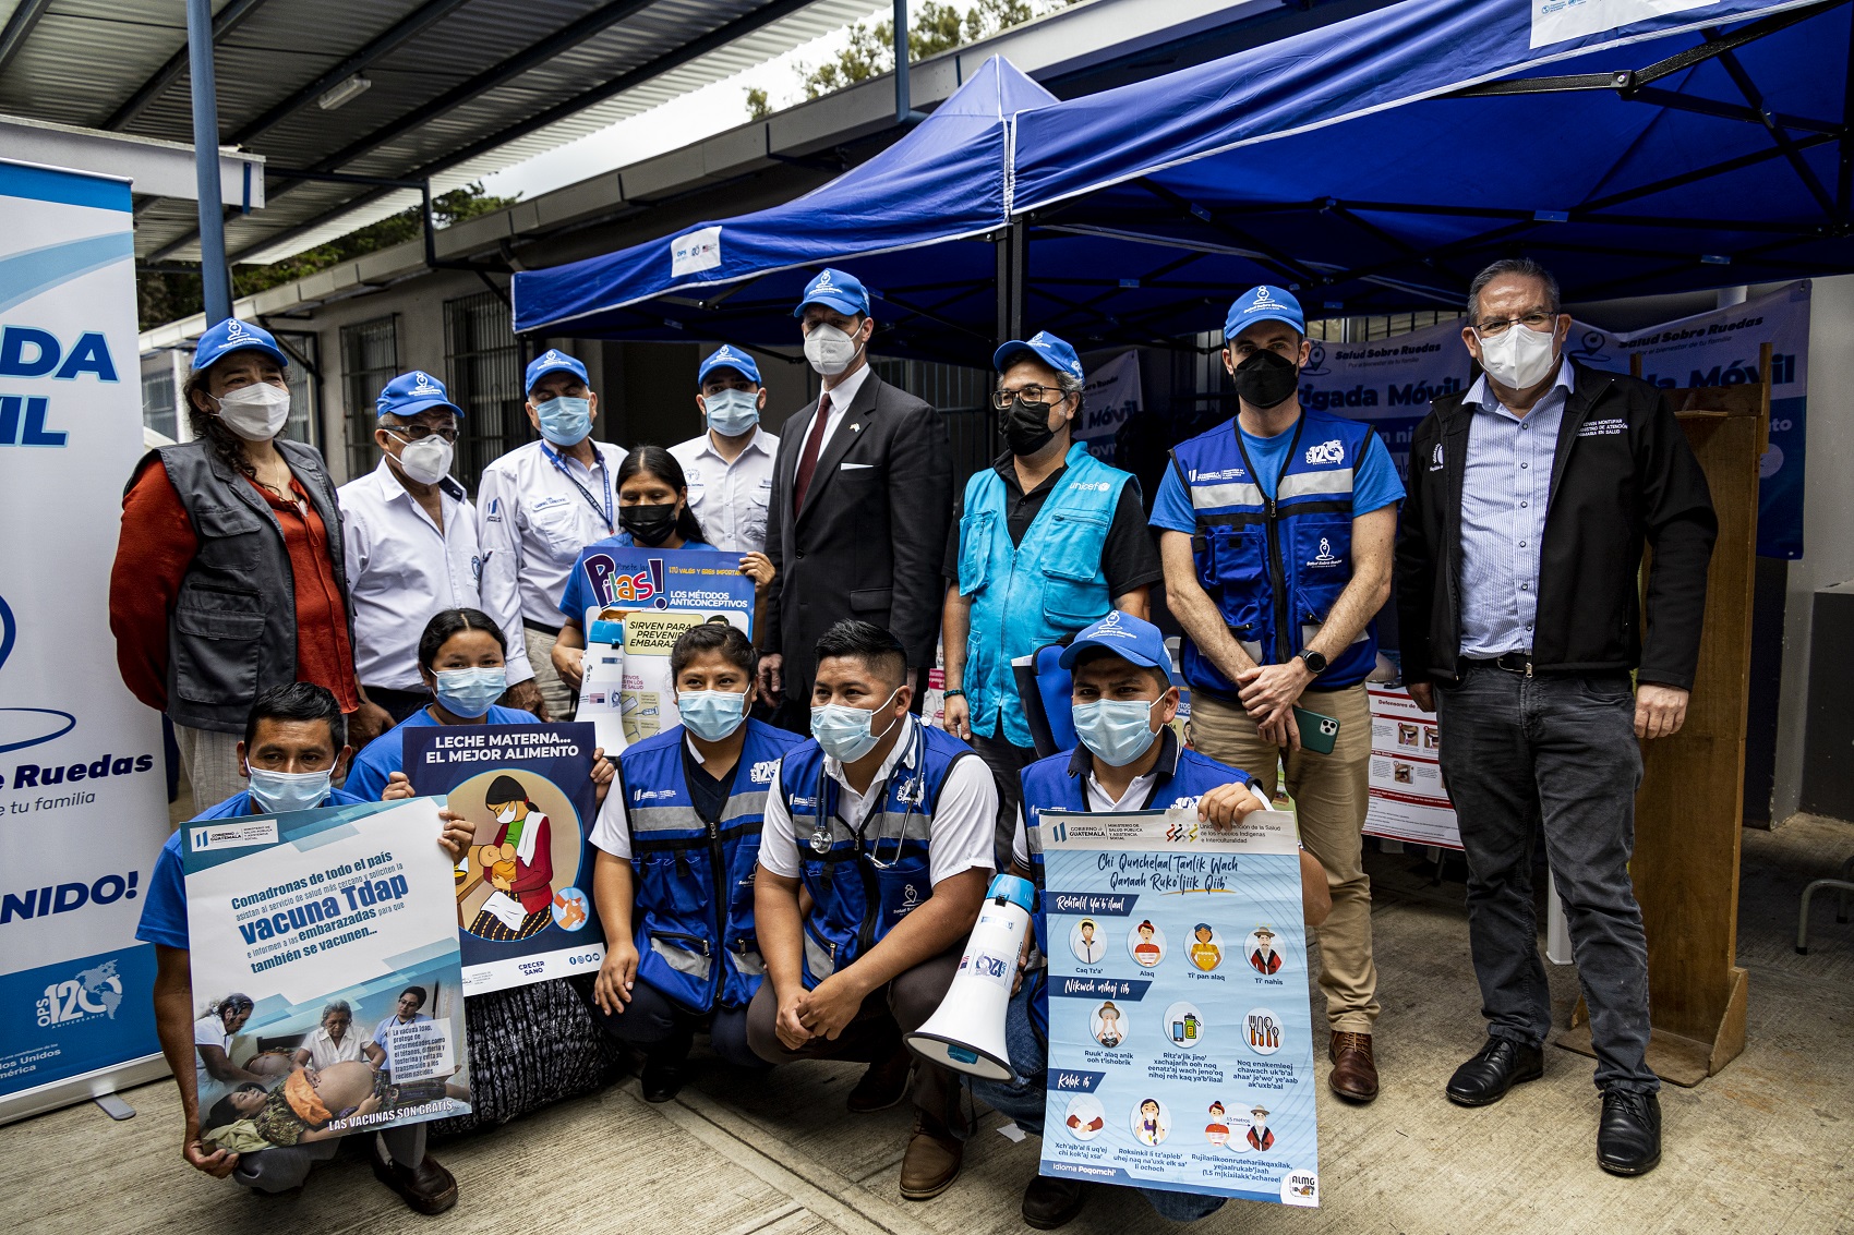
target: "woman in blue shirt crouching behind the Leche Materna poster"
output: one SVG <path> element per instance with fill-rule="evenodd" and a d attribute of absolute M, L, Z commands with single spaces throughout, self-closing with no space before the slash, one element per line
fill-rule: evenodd
<path fill-rule="evenodd" d="M 419 677 L 436 697 L 397 727 L 375 738 L 354 760 L 347 790 L 365 799 L 412 797 L 404 773 L 404 731 L 430 725 L 540 725 L 519 708 L 497 707 L 508 688 L 501 627 L 478 608 L 447 608 L 432 616 L 419 636 Z M 593 751 L 593 796 L 604 799 L 614 768 Z M 441 818 L 452 820 L 449 810 Z M 530 825 L 536 816 L 528 816 Z M 562 821 L 554 821 L 560 827 Z M 517 885 L 541 872 L 517 870 Z M 547 870 L 545 875 L 552 877 Z M 519 894 L 517 894 L 519 896 Z M 551 890 L 549 890 L 551 896 Z M 530 898 L 532 899 L 532 898 Z M 580 990 L 573 988 L 580 985 Z M 439 1120 L 439 1133 L 493 1127 L 517 1114 L 591 1092 L 617 1076 L 619 1057 L 586 1005 L 586 979 L 556 977 L 464 999 L 469 1038 L 471 1113 Z"/>

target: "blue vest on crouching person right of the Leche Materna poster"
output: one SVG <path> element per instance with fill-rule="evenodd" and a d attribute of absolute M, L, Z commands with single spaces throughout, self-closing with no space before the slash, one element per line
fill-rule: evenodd
<path fill-rule="evenodd" d="M 797 734 L 749 719 L 714 823 L 690 799 L 680 725 L 617 757 L 638 879 L 638 977 L 693 1012 L 742 1007 L 760 988 L 766 962 L 753 931 L 753 872 L 766 792 L 797 744 Z"/>

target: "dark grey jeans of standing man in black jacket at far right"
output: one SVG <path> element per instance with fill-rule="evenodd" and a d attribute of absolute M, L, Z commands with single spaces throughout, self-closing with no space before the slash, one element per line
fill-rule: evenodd
<path fill-rule="evenodd" d="M 1533 834 L 1570 925 L 1591 1009 L 1596 1087 L 1654 1092 L 1648 938 L 1628 864 L 1641 747 L 1626 673 L 1524 677 L 1467 666 L 1437 682 L 1442 779 L 1468 857 L 1468 944 L 1487 1033 L 1526 1046 L 1552 1029 L 1531 907 Z"/>

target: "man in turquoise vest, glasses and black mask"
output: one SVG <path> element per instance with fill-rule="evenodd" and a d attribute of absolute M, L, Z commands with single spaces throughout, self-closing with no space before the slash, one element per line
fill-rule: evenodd
<path fill-rule="evenodd" d="M 1075 441 L 1083 369 L 1040 330 L 992 356 L 1005 452 L 973 473 L 946 545 L 946 729 L 997 781 L 997 853 L 1010 849 L 1020 773 L 1036 760 L 1014 656 L 1057 643 L 1118 608 L 1148 616 L 1162 579 L 1140 482 Z"/>

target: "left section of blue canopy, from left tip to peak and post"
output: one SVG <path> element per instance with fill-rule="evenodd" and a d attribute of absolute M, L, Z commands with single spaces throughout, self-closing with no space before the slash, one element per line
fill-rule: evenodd
<path fill-rule="evenodd" d="M 979 347 L 992 334 L 997 276 L 996 250 L 979 237 L 1007 223 L 1009 122 L 1051 102 L 994 56 L 901 141 L 805 197 L 517 274 L 515 330 L 795 347 L 792 306 L 805 284 L 825 265 L 853 261 L 877 300 L 884 345 L 905 349 L 925 326 Z M 923 247 L 936 247 L 931 263 L 914 254 Z M 984 289 L 977 319 L 946 304 L 949 286 Z"/>

